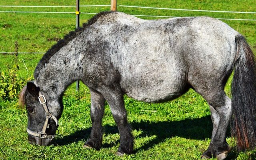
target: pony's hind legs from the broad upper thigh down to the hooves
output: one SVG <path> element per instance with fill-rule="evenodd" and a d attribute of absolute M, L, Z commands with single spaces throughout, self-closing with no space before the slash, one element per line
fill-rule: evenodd
<path fill-rule="evenodd" d="M 224 86 L 232 67 L 227 63 L 218 56 L 210 56 L 206 59 L 199 56 L 189 68 L 188 82 L 210 105 L 213 122 L 212 139 L 208 149 L 202 154 L 202 158 L 213 156 L 218 160 L 223 160 L 230 151 L 226 142 L 226 132 L 232 108 L 231 100 L 224 92 Z"/>

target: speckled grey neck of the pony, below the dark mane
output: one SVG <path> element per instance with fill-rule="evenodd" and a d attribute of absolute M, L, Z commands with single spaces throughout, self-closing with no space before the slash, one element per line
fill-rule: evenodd
<path fill-rule="evenodd" d="M 72 46 L 64 46 L 56 52 L 35 77 L 40 90 L 51 98 L 61 98 L 66 88 L 80 79 L 79 57 Z"/>

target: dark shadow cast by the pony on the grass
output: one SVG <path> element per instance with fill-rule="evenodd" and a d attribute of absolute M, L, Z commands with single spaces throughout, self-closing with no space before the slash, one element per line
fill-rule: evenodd
<path fill-rule="evenodd" d="M 139 150 L 148 150 L 152 148 L 154 145 L 157 145 L 166 138 L 172 138 L 174 136 L 194 139 L 194 140 L 205 140 L 206 138 L 211 138 L 212 135 L 212 121 L 210 116 L 205 116 L 197 119 L 185 119 L 181 121 L 172 121 L 172 122 L 131 122 L 130 123 L 133 129 L 141 130 L 142 133 L 138 136 L 138 138 L 153 136 L 156 138 L 150 140 L 144 146 L 137 148 L 134 152 L 138 152 Z M 116 134 L 118 133 L 117 126 L 104 126 L 105 134 Z M 78 142 L 80 140 L 87 140 L 89 138 L 91 132 L 91 128 L 87 128 L 85 130 L 78 130 L 73 134 L 68 136 L 64 136 L 62 138 L 55 139 L 52 143 L 56 145 L 66 145 L 74 142 Z M 230 131 L 227 132 L 227 136 L 230 135 Z M 112 142 L 111 144 L 104 143 L 102 144 L 102 148 L 110 148 L 119 143 L 119 140 L 116 142 Z M 205 148 L 207 149 L 207 148 Z M 234 159 L 237 157 L 236 150 L 232 150 L 227 157 L 228 160 Z"/>

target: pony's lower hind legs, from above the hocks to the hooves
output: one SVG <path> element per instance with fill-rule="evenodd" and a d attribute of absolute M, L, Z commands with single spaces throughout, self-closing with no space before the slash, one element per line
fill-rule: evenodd
<path fill-rule="evenodd" d="M 224 91 L 207 94 L 207 96 L 202 94 L 202 96 L 210 105 L 213 122 L 212 139 L 202 158 L 212 158 L 213 155 L 218 160 L 223 160 L 230 151 L 226 142 L 226 131 L 232 114 L 231 100 Z"/>

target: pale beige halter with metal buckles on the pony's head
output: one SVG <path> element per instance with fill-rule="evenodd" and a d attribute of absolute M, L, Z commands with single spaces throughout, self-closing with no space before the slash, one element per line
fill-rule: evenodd
<path fill-rule="evenodd" d="M 28 128 L 27 128 L 27 132 L 28 132 L 28 134 L 31 134 L 32 136 L 36 136 L 36 137 L 39 137 L 39 138 L 54 138 L 55 135 L 46 134 L 45 131 L 46 131 L 46 128 L 49 128 L 49 126 L 50 126 L 48 124 L 49 119 L 54 120 L 54 122 L 56 123 L 57 126 L 58 126 L 58 119 L 54 115 L 52 115 L 52 112 L 50 112 L 48 110 L 48 107 L 47 107 L 47 104 L 46 104 L 46 99 L 45 99 L 44 95 L 42 95 L 40 92 L 39 92 L 39 94 L 40 94 L 40 96 L 38 96 L 38 99 L 39 99 L 40 104 L 42 104 L 42 106 L 44 108 L 45 116 L 46 116 L 46 119 L 44 121 L 44 126 L 42 128 L 42 131 L 39 132 L 39 133 L 33 132 L 33 131 L 29 130 Z"/>

